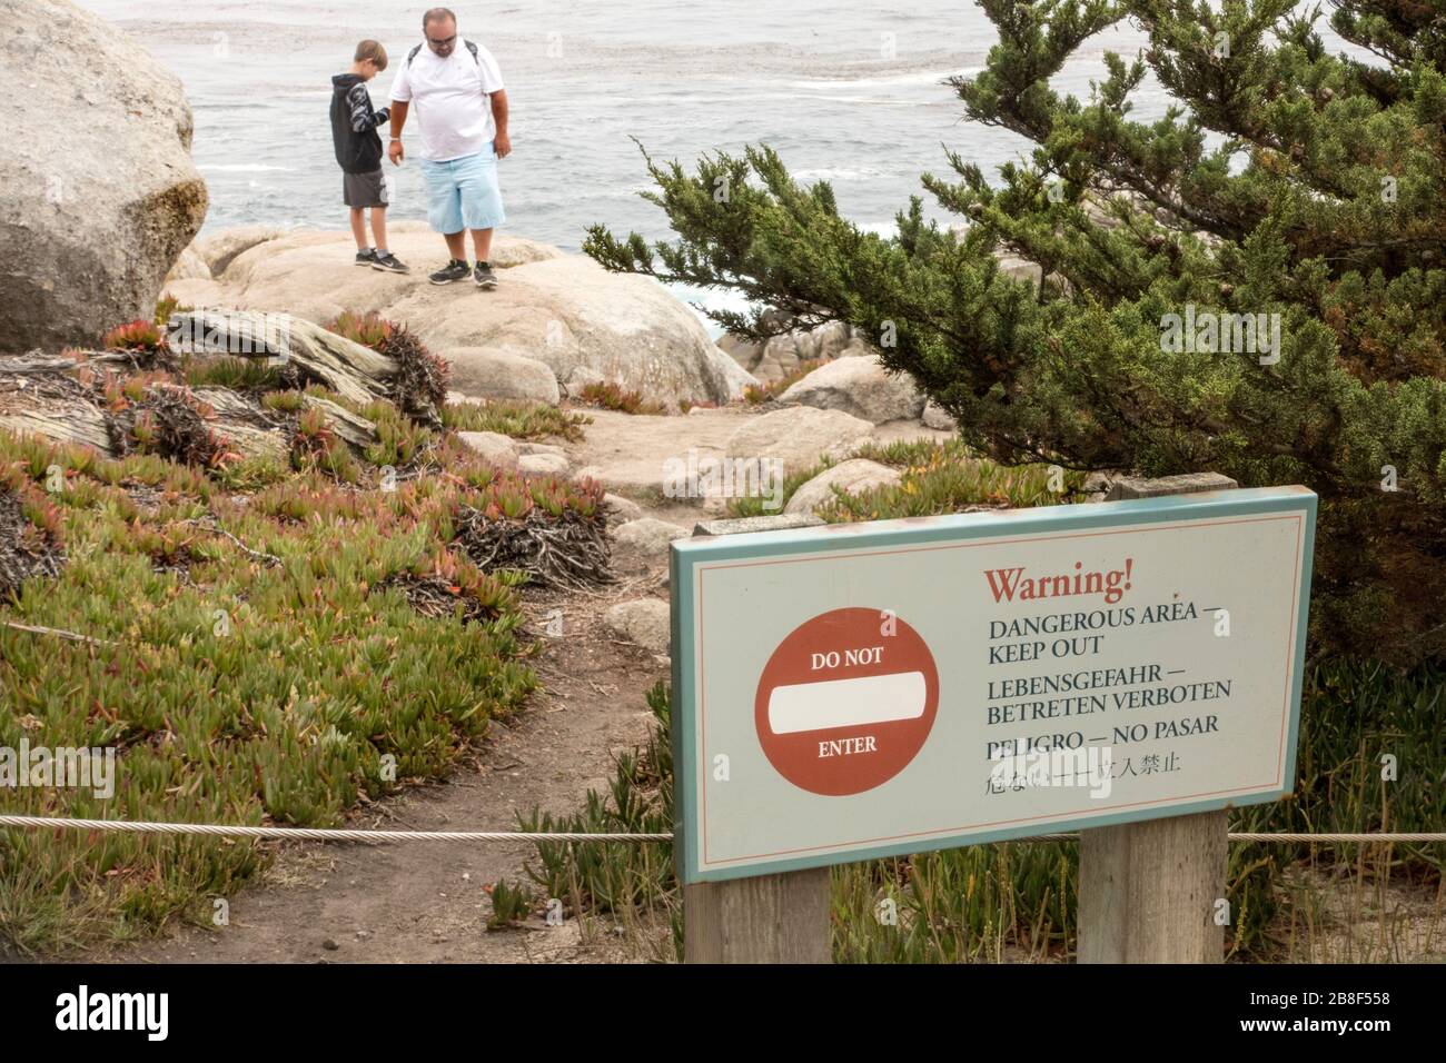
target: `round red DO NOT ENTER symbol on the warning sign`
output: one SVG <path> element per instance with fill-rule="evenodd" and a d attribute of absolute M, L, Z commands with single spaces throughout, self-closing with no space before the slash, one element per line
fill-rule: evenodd
<path fill-rule="evenodd" d="M 834 609 L 768 658 L 753 723 L 779 775 L 844 797 L 904 771 L 937 713 L 938 670 L 920 633 L 882 609 Z"/>

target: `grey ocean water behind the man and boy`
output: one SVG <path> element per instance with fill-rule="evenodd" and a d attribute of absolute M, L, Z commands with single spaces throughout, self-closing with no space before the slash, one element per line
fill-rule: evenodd
<path fill-rule="evenodd" d="M 333 158 L 330 78 L 363 38 L 392 56 L 372 82 L 376 106 L 421 42 L 427 3 L 396 0 L 78 0 L 134 35 L 185 85 L 192 153 L 211 192 L 207 229 L 247 223 L 343 229 Z M 775 148 L 795 178 L 829 181 L 840 211 L 894 229 L 925 172 L 947 174 L 944 146 L 986 172 L 1028 142 L 964 123 L 954 74 L 977 71 L 995 43 L 972 0 L 513 0 L 453 3 L 461 36 L 496 56 L 512 108 L 513 153 L 500 163 L 506 230 L 577 250 L 587 227 L 668 236 L 639 145 L 691 163 L 746 143 Z M 1144 35 L 1122 25 L 1086 46 L 1054 87 L 1086 97 L 1106 49 L 1132 56 Z M 1152 81 L 1135 117 L 1158 117 Z M 390 217 L 425 218 L 421 169 L 392 176 Z M 936 211 L 936 215 L 940 215 Z M 425 265 L 425 263 L 422 263 Z M 727 305 L 726 292 L 681 294 Z"/>

